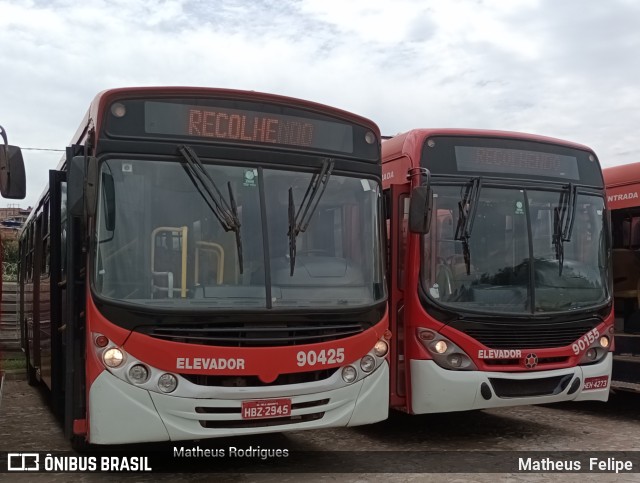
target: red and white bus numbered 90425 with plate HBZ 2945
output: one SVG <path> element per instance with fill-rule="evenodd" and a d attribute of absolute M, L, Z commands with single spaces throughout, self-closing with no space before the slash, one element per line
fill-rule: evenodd
<path fill-rule="evenodd" d="M 385 419 L 380 156 L 303 100 L 98 94 L 20 241 L 28 376 L 72 443 Z"/>

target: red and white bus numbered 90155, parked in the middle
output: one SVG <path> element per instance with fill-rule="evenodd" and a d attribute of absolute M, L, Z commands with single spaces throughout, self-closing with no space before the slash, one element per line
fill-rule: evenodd
<path fill-rule="evenodd" d="M 382 144 L 391 406 L 606 401 L 613 342 L 604 185 L 589 148 L 416 129 Z"/>

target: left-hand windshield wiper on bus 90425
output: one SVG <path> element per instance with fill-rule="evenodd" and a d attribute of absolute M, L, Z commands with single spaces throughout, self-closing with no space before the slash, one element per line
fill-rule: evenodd
<path fill-rule="evenodd" d="M 187 162 L 187 173 L 193 182 L 193 185 L 204 199 L 205 203 L 211 208 L 211 212 L 220 222 L 224 231 L 233 231 L 236 234 L 236 249 L 238 252 L 238 267 L 242 274 L 242 237 L 240 236 L 240 217 L 238 216 L 238 207 L 231 189 L 231 182 L 227 183 L 229 191 L 229 201 L 227 201 L 222 192 L 213 181 L 213 178 L 204 169 L 202 161 L 190 146 L 178 146 L 178 151 L 183 159 Z"/>

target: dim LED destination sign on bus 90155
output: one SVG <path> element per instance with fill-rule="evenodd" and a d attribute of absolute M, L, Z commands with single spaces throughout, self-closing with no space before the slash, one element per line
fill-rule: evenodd
<path fill-rule="evenodd" d="M 456 146 L 459 171 L 525 174 L 580 179 L 578 159 L 574 156 L 505 149 L 496 147 Z"/>

